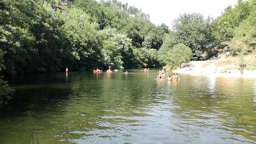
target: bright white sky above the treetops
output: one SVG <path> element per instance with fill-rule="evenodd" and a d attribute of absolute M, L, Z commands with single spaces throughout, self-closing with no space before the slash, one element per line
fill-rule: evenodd
<path fill-rule="evenodd" d="M 150 15 L 150 21 L 157 25 L 162 23 L 172 29 L 172 21 L 180 14 L 201 13 L 204 18 L 208 16 L 217 18 L 225 8 L 237 4 L 238 0 L 118 0 L 122 4 L 128 3 Z M 244 0 L 243 0 L 244 1 Z"/>

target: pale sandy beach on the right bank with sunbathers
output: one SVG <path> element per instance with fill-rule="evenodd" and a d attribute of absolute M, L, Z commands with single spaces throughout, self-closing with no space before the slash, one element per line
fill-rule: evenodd
<path fill-rule="evenodd" d="M 190 64 L 193 64 L 193 68 L 179 68 L 177 70 L 173 70 L 173 73 L 178 74 L 193 74 L 193 75 L 215 75 L 215 76 L 224 76 L 224 77 L 244 77 L 244 78 L 256 78 L 256 71 L 252 70 L 244 70 L 244 74 L 240 73 L 240 70 L 236 68 L 236 70 L 226 70 L 225 73 L 220 73 L 220 70 L 223 68 L 218 68 L 214 66 L 214 64 L 210 64 L 206 68 L 200 67 L 205 61 L 194 61 Z"/>

